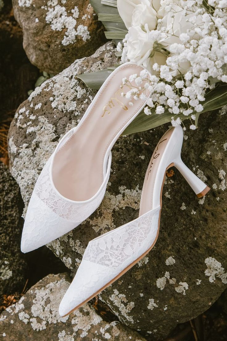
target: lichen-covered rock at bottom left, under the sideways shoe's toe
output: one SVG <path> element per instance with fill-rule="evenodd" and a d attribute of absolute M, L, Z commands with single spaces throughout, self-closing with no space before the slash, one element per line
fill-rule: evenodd
<path fill-rule="evenodd" d="M 107 323 L 88 304 L 70 316 L 60 317 L 58 306 L 69 286 L 66 273 L 49 275 L 35 284 L 0 315 L 4 341 L 145 341 L 120 322 Z M 4 338 L 3 338 L 4 337 Z"/>

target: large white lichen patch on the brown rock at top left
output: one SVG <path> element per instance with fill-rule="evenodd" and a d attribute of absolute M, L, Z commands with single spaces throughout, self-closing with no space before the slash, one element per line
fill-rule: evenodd
<path fill-rule="evenodd" d="M 62 3 L 62 1 L 61 1 Z M 91 39 L 90 32 L 86 25 L 77 26 L 77 18 L 79 17 L 79 9 L 77 6 L 71 9 L 71 11 L 66 10 L 64 6 L 61 6 L 59 2 L 48 1 L 47 2 L 47 13 L 46 22 L 50 24 L 51 30 L 62 31 L 65 30 L 64 37 L 62 40 L 62 45 L 74 44 L 79 36 L 84 42 Z"/>

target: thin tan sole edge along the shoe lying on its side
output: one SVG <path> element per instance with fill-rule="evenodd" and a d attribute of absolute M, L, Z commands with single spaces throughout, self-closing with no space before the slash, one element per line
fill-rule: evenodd
<path fill-rule="evenodd" d="M 168 165 L 168 167 L 165 170 L 166 171 L 170 168 L 174 166 L 174 163 L 171 163 L 170 165 Z M 160 195 L 160 213 L 159 213 L 159 226 L 158 226 L 158 232 L 157 232 L 157 236 L 155 238 L 155 241 L 153 242 L 153 244 L 151 245 L 151 247 L 142 254 L 142 256 L 140 256 L 139 258 L 137 258 L 133 263 L 129 264 L 127 266 L 127 268 L 125 268 L 124 270 L 122 270 L 116 277 L 114 277 L 109 283 L 107 283 L 106 285 L 104 285 L 101 289 L 99 289 L 98 291 L 96 291 L 96 293 L 94 293 L 92 296 L 88 297 L 85 301 L 83 301 L 79 306 L 75 307 L 74 309 L 70 310 L 67 314 L 65 314 L 63 317 L 71 314 L 72 312 L 74 312 L 75 310 L 79 309 L 80 307 L 82 307 L 85 303 L 87 303 L 88 301 L 90 301 L 92 298 L 94 298 L 95 296 L 97 296 L 98 294 L 100 294 L 104 289 L 106 289 L 110 284 L 114 283 L 116 280 L 118 280 L 122 275 L 124 275 L 129 269 L 131 269 L 137 262 L 139 262 L 144 256 L 146 256 L 146 254 L 148 254 L 150 252 L 150 250 L 155 246 L 155 243 L 158 239 L 159 236 L 159 227 L 160 227 L 160 218 L 161 218 L 161 210 L 162 210 L 162 190 L 163 190 L 163 186 L 164 186 L 164 182 L 165 182 L 165 176 L 162 182 L 162 189 L 161 189 L 161 195 Z"/>

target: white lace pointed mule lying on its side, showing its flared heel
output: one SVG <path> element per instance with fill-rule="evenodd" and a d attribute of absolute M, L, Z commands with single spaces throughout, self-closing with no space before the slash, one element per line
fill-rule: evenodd
<path fill-rule="evenodd" d="M 159 233 L 162 188 L 166 170 L 175 166 L 198 197 L 210 188 L 181 160 L 183 130 L 169 129 L 150 160 L 141 196 L 139 218 L 88 243 L 76 276 L 64 295 L 59 314 L 68 315 L 116 281 L 155 245 Z"/>

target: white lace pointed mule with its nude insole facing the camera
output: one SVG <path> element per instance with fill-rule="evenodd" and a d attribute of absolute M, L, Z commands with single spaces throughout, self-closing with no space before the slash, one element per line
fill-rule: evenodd
<path fill-rule="evenodd" d="M 35 184 L 22 232 L 22 252 L 71 231 L 100 205 L 110 176 L 111 149 L 146 104 L 142 96 L 128 105 L 121 92 L 130 88 L 122 79 L 143 70 L 125 63 L 113 71 L 77 127 L 59 142 Z M 144 91 L 149 97 L 149 91 Z"/>

